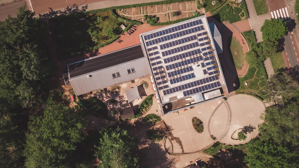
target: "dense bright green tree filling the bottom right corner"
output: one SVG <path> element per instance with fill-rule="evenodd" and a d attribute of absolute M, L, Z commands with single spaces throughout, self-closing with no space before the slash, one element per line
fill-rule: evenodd
<path fill-rule="evenodd" d="M 273 140 L 250 140 L 244 162 L 249 168 L 295 168 L 298 166 L 298 152 L 289 149 Z"/>

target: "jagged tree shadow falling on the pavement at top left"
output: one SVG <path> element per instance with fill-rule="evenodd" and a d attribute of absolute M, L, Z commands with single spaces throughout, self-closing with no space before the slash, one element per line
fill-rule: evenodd
<path fill-rule="evenodd" d="M 56 16 L 60 15 L 68 15 L 73 13 L 79 13 L 84 12 L 88 8 L 87 5 L 82 6 L 81 9 L 79 9 L 79 6 L 77 4 L 73 4 L 70 6 L 67 6 L 64 10 L 53 10 L 51 7 L 48 7 L 50 10 L 47 13 L 39 14 L 39 19 L 46 21 L 50 18 L 54 18 Z"/>

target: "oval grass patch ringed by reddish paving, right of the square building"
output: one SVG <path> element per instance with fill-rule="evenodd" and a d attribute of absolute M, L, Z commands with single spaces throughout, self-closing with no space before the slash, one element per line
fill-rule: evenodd
<path fill-rule="evenodd" d="M 228 40 L 229 41 L 229 40 Z M 231 39 L 231 55 L 234 59 L 234 63 L 237 69 L 241 69 L 243 66 L 243 51 L 242 48 L 238 42 L 238 40 L 235 37 L 232 37 Z"/>

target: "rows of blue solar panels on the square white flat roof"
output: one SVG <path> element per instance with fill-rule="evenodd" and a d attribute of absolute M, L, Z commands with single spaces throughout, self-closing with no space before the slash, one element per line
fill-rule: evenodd
<path fill-rule="evenodd" d="M 220 87 L 211 39 L 201 19 L 141 35 L 157 88 L 184 96 Z M 196 65 L 197 64 L 197 65 Z M 194 67 L 201 66 L 203 79 Z"/>

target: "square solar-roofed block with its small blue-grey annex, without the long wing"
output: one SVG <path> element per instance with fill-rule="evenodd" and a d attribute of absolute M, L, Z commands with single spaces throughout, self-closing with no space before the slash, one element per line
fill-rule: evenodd
<path fill-rule="evenodd" d="M 216 52 L 222 52 L 221 36 L 206 16 L 156 29 L 140 38 L 163 114 L 227 94 Z"/>

